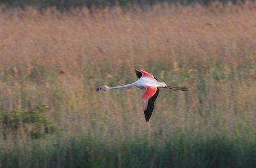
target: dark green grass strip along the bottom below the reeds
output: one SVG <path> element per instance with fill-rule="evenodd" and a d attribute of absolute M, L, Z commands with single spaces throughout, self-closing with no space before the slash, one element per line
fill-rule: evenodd
<path fill-rule="evenodd" d="M 255 167 L 255 145 L 220 137 L 204 139 L 179 135 L 152 144 L 140 141 L 106 142 L 74 137 L 54 145 L 39 142 L 5 150 L 6 167 Z M 28 146 L 31 146 L 28 149 Z M 26 157 L 23 157 L 25 155 Z M 16 162 L 13 162 L 16 160 Z"/>

